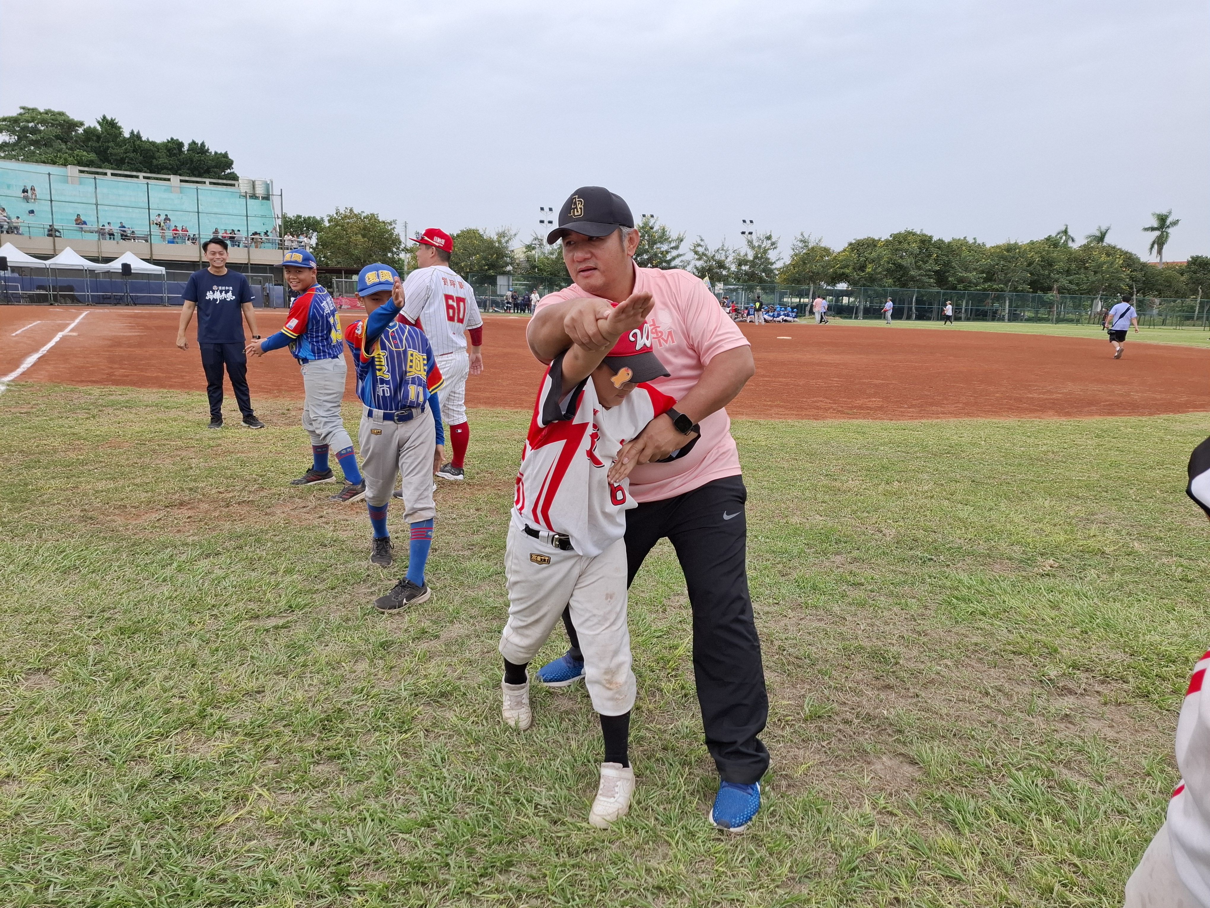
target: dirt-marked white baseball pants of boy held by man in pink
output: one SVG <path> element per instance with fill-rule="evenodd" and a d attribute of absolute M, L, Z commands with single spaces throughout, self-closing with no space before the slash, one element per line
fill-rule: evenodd
<path fill-rule="evenodd" d="M 600 554 L 586 557 L 526 535 L 513 519 L 505 546 L 505 576 L 508 622 L 500 634 L 500 654 L 517 665 L 532 660 L 570 605 L 593 709 L 601 716 L 629 712 L 636 684 L 626 626 L 626 542 L 620 539 Z"/>

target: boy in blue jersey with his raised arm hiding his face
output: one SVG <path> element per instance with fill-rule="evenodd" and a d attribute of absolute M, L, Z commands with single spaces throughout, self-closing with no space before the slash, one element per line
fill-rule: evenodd
<path fill-rule="evenodd" d="M 445 453 L 437 390 L 442 373 L 425 333 L 396 321 L 403 310 L 403 282 L 390 265 L 374 263 L 357 275 L 357 294 L 368 317 L 348 326 L 345 340 L 357 369 L 357 397 L 364 404 L 359 441 L 365 505 L 374 528 L 370 562 L 394 561 L 386 512 L 396 477 L 403 481 L 404 519 L 410 524 L 408 573 L 374 608 L 396 614 L 428 599 L 425 564 L 433 541 L 433 471 Z"/>

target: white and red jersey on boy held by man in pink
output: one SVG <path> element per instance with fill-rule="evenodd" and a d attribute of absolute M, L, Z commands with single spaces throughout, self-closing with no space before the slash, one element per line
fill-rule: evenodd
<path fill-rule="evenodd" d="M 643 384 L 617 407 L 605 408 L 592 378 L 570 391 L 561 379 L 563 356 L 558 356 L 534 404 L 513 519 L 563 533 L 580 554 L 597 556 L 626 535 L 624 512 L 638 504 L 629 494 L 629 479 L 609 482 L 610 465 L 628 438 L 675 401 Z"/>

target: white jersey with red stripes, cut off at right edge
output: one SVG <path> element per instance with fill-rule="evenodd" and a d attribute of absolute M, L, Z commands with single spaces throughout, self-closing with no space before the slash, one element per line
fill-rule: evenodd
<path fill-rule="evenodd" d="M 1198 660 L 1176 720 L 1176 765 L 1181 783 L 1168 804 L 1172 863 L 1185 887 L 1210 906 L 1210 653 Z"/>

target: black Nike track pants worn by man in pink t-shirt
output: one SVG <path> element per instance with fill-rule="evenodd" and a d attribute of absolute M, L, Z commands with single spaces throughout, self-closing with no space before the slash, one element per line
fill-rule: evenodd
<path fill-rule="evenodd" d="M 768 695 L 748 594 L 747 500 L 743 479 L 728 476 L 626 512 L 627 582 L 662 538 L 676 550 L 693 611 L 693 679 L 705 746 L 724 781 L 741 785 L 768 769 L 768 751 L 756 737 L 768 719 Z M 563 617 L 578 649 L 571 616 Z"/>

